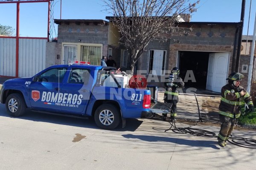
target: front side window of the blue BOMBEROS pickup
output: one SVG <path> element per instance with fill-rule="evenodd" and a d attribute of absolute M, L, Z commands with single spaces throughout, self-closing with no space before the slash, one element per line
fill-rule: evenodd
<path fill-rule="evenodd" d="M 52 68 L 40 75 L 39 82 L 62 82 L 67 68 Z"/>

